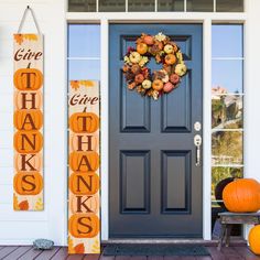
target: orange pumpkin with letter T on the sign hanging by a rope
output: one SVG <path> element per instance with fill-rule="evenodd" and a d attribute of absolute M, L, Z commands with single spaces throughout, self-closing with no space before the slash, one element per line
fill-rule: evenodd
<path fill-rule="evenodd" d="M 20 68 L 13 75 L 13 84 L 19 90 L 37 90 L 43 85 L 43 74 L 36 68 Z"/>

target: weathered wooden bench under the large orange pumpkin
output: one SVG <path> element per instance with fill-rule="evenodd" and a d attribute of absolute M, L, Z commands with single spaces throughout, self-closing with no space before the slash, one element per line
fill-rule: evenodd
<path fill-rule="evenodd" d="M 260 213 L 219 213 L 221 224 L 221 234 L 218 241 L 218 250 L 221 250 L 225 240 L 226 247 L 229 246 L 230 231 L 234 224 L 260 224 Z"/>

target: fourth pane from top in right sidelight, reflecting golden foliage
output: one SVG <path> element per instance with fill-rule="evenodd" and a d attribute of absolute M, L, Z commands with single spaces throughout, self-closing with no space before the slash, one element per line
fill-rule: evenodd
<path fill-rule="evenodd" d="M 212 134 L 212 164 L 242 164 L 242 132 L 216 131 Z"/>

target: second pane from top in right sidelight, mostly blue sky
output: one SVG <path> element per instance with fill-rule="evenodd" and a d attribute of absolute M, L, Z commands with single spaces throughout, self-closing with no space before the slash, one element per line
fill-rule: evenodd
<path fill-rule="evenodd" d="M 242 61 L 213 61 L 213 89 L 242 93 Z"/>

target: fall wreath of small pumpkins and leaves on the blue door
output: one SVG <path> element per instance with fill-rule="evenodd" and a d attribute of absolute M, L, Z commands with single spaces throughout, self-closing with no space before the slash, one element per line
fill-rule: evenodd
<path fill-rule="evenodd" d="M 145 66 L 152 57 L 162 64 L 162 69 L 151 73 Z M 187 71 L 177 44 L 162 33 L 154 36 L 143 33 L 138 37 L 136 47 L 128 48 L 123 62 L 128 88 L 154 100 L 175 89 Z"/>

